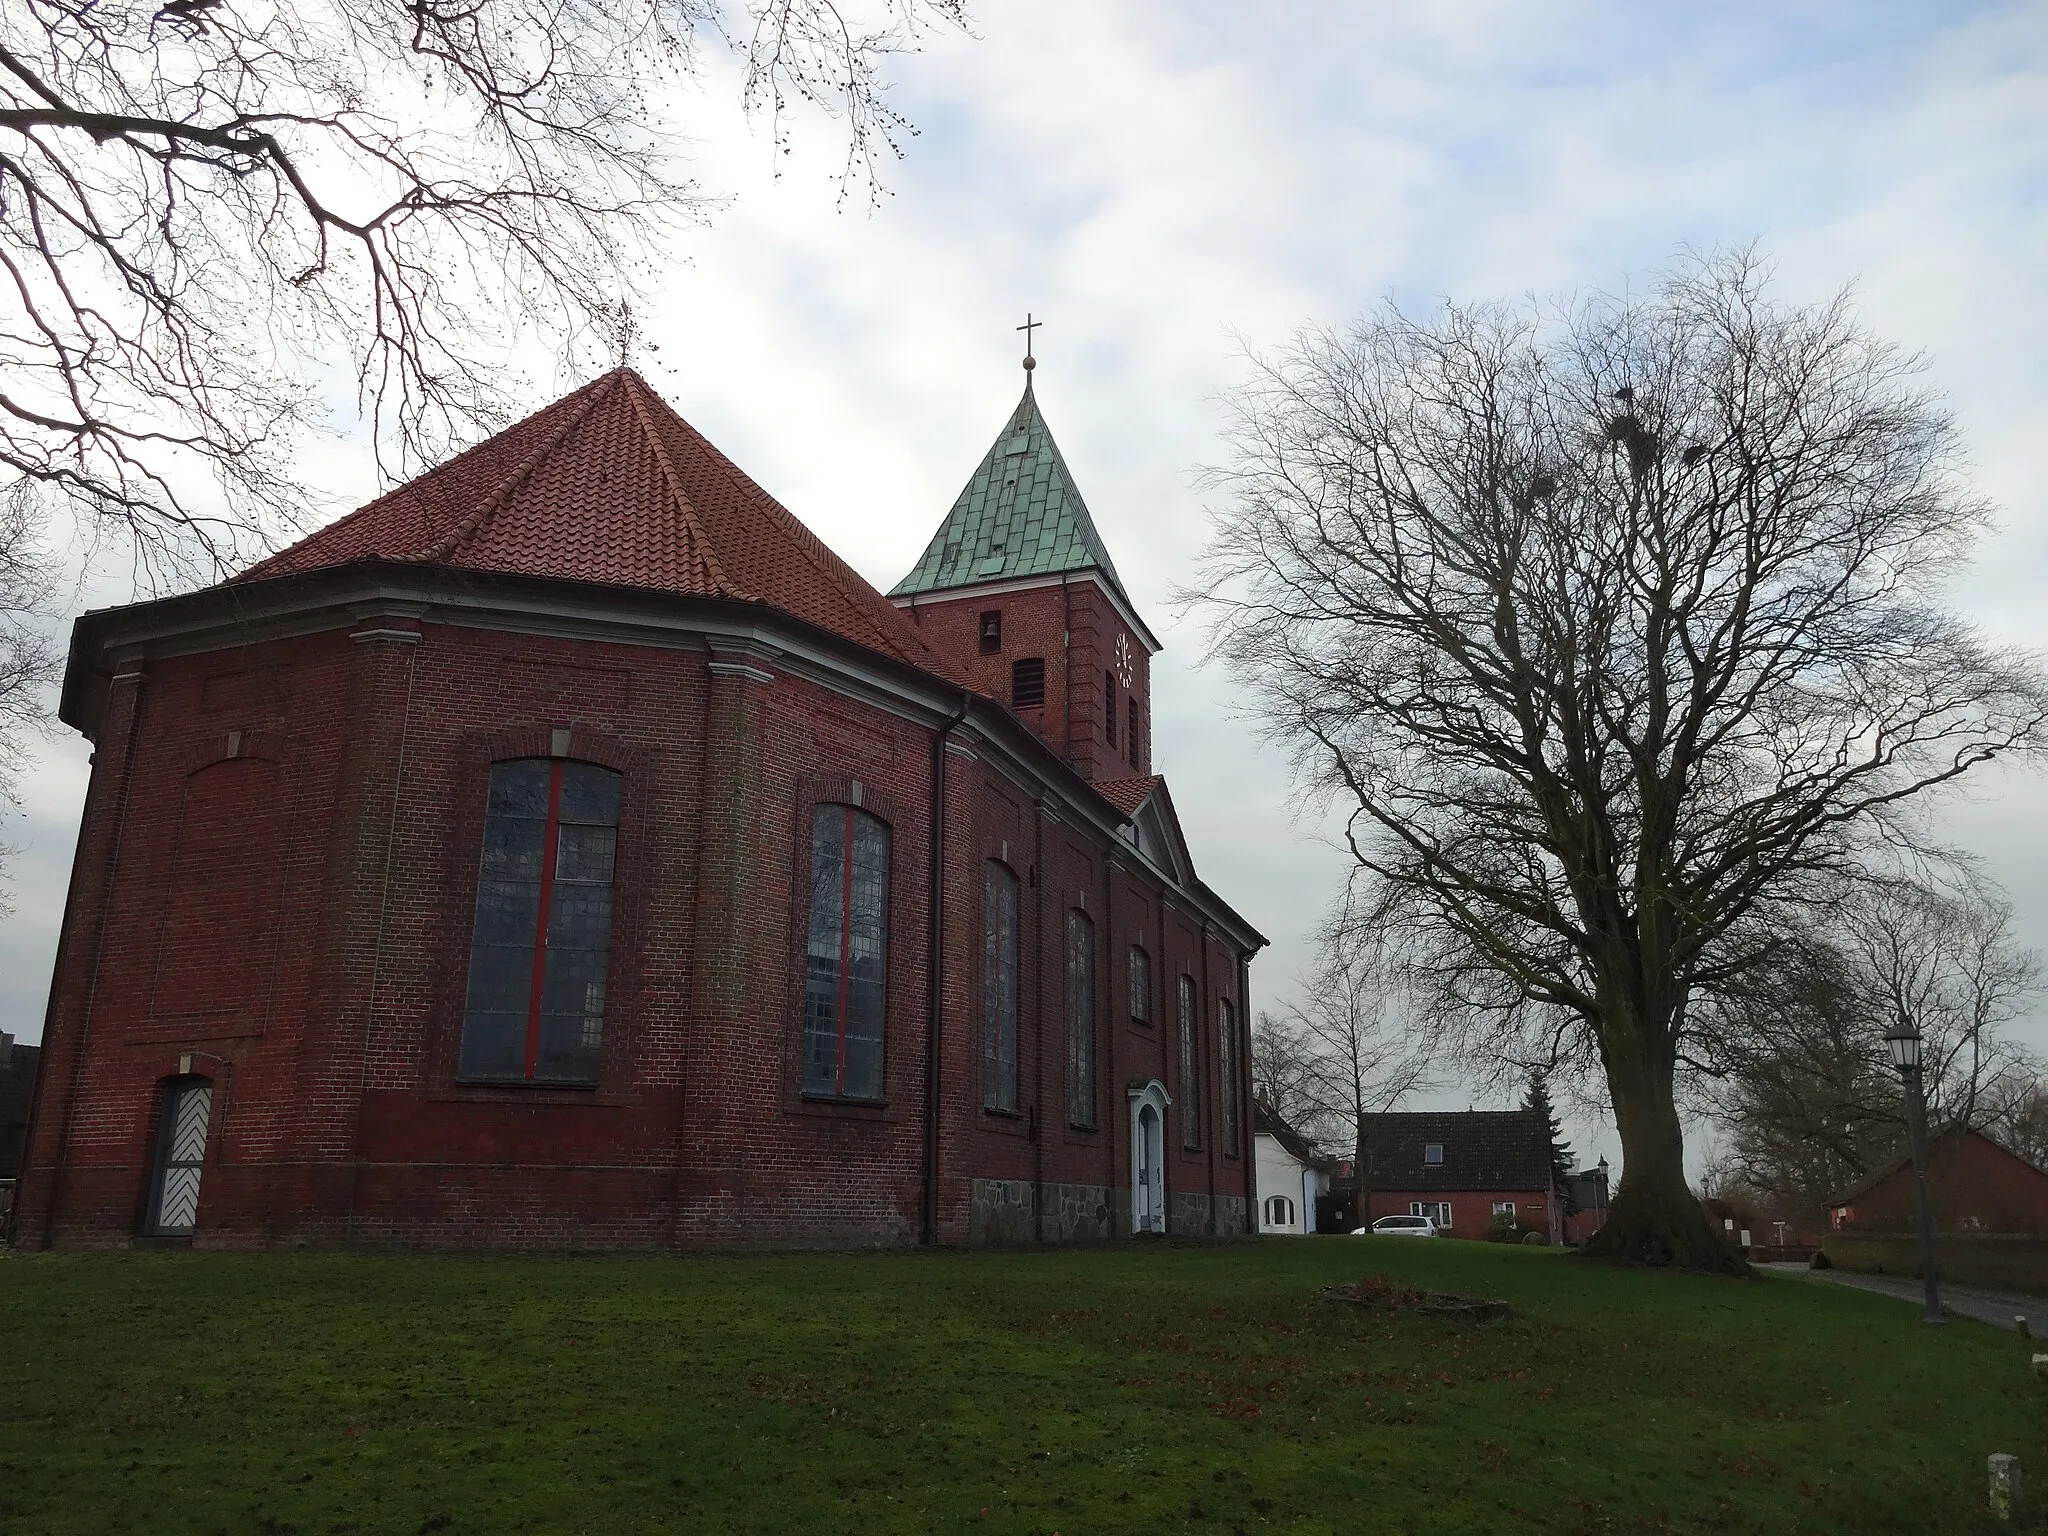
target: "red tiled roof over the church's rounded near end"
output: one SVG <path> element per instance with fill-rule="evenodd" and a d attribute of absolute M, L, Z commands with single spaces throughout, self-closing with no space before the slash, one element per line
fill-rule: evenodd
<path fill-rule="evenodd" d="M 242 571 L 397 559 L 764 602 L 958 682 L 903 614 L 618 369 Z"/>

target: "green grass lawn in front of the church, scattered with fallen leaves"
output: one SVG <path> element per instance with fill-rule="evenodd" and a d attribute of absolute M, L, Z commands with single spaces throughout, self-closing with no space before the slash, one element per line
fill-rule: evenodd
<path fill-rule="evenodd" d="M 1516 1317 L 1317 1294 L 1366 1270 Z M 1464 1241 L 6 1255 L 0 1530 L 2013 1530 L 2032 1348 Z"/>

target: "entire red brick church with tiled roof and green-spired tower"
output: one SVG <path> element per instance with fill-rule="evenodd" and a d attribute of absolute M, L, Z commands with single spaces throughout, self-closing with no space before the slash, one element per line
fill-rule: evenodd
<path fill-rule="evenodd" d="M 14 1239 L 1245 1231 L 1157 649 L 1030 387 L 883 596 L 631 371 L 86 614 Z"/>

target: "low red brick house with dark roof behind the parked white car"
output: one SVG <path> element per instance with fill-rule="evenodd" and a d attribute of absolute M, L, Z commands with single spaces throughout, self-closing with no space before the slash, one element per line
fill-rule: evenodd
<path fill-rule="evenodd" d="M 1540 1110 L 1419 1110 L 1366 1116 L 1372 1165 L 1360 1227 L 1432 1217 L 1446 1237 L 1485 1237 L 1495 1214 L 1563 1241 Z M 1356 1188 L 1356 1186 L 1354 1186 Z"/>

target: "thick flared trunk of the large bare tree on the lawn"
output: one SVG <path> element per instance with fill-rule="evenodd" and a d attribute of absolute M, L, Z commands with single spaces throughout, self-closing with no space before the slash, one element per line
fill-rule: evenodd
<path fill-rule="evenodd" d="M 1743 1255 L 1714 1231 L 1686 1182 L 1686 1133 L 1671 1094 L 1671 1065 L 1645 1061 L 1636 1042 L 1606 1055 L 1608 1094 L 1622 1137 L 1622 1186 L 1608 1204 L 1608 1223 L 1581 1251 L 1624 1264 L 1747 1274 Z"/>

